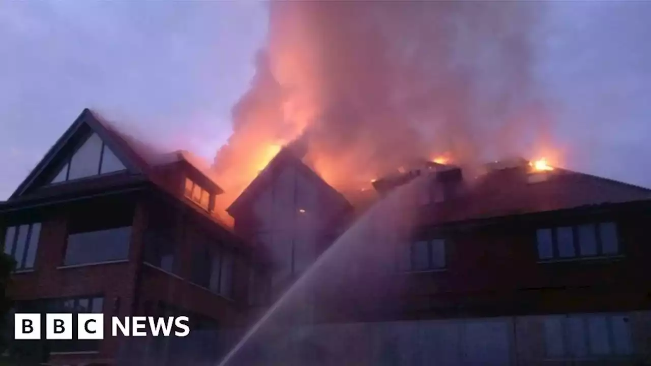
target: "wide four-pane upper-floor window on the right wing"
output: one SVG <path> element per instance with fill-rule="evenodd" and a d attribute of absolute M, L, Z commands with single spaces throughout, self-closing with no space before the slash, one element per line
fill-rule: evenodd
<path fill-rule="evenodd" d="M 586 223 L 536 231 L 538 259 L 572 259 L 616 255 L 620 252 L 616 224 Z"/>

